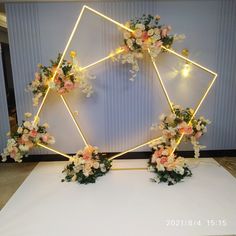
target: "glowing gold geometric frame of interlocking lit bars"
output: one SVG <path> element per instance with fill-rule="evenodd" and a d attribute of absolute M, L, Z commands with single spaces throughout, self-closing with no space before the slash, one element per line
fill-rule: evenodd
<path fill-rule="evenodd" d="M 69 37 L 69 39 L 68 39 L 68 42 L 67 42 L 67 44 L 66 44 L 66 46 L 65 46 L 65 49 L 64 49 L 64 51 L 63 51 L 63 53 L 62 53 L 62 56 L 61 56 L 61 58 L 60 58 L 60 61 L 59 61 L 58 65 L 57 65 L 57 68 L 56 68 L 56 70 L 55 70 L 55 72 L 54 72 L 54 74 L 53 74 L 53 76 L 52 76 L 52 78 L 51 78 L 52 81 L 54 80 L 54 78 L 55 78 L 55 76 L 56 76 L 56 74 L 57 74 L 57 71 L 58 71 L 58 69 L 60 68 L 60 66 L 61 66 L 61 64 L 62 64 L 62 61 L 63 61 L 63 59 L 64 59 L 64 57 L 65 57 L 65 54 L 66 54 L 66 52 L 67 52 L 67 50 L 68 50 L 68 48 L 69 48 L 69 45 L 70 45 L 70 43 L 71 43 L 71 41 L 72 41 L 72 38 L 73 38 L 73 36 L 74 36 L 74 34 L 75 34 L 75 31 L 76 31 L 76 29 L 77 29 L 77 27 L 78 27 L 78 25 L 79 25 L 79 23 L 80 23 L 80 20 L 81 20 L 81 18 L 82 18 L 82 15 L 83 15 L 84 11 L 85 11 L 86 9 L 89 10 L 89 11 L 91 11 L 91 12 L 93 12 L 93 13 L 95 13 L 95 14 L 97 14 L 98 16 L 100 16 L 100 17 L 102 17 L 102 18 L 104 18 L 104 19 L 106 19 L 106 20 L 108 20 L 108 21 L 110 21 L 110 22 L 112 22 L 112 23 L 118 25 L 119 27 L 121 27 L 121 28 L 123 28 L 123 29 L 125 29 L 125 30 L 127 30 L 127 31 L 129 31 L 129 32 L 133 32 L 133 30 L 131 30 L 130 28 L 126 27 L 125 25 L 123 25 L 123 24 L 121 24 L 121 23 L 119 23 L 119 22 L 117 22 L 117 21 L 111 19 L 110 17 L 108 17 L 108 16 L 106 16 L 106 15 L 104 15 L 104 14 L 102 14 L 102 13 L 100 13 L 100 12 L 98 12 L 98 11 L 96 11 L 96 10 L 94 10 L 94 9 L 92 9 L 92 8 L 90 8 L 90 7 L 88 7 L 88 6 L 86 6 L 86 5 L 84 5 L 84 6 L 82 7 L 82 10 L 81 10 L 81 12 L 80 12 L 78 18 L 77 18 L 77 21 L 76 21 L 76 23 L 75 23 L 75 25 L 74 25 L 74 28 L 73 28 L 73 30 L 72 30 L 72 33 L 71 33 L 71 35 L 70 35 L 70 37 Z M 200 64 L 198 64 L 198 63 L 196 63 L 196 62 L 194 62 L 194 61 L 192 61 L 192 60 L 190 60 L 190 59 L 188 59 L 188 58 L 186 58 L 186 57 L 184 57 L 184 56 L 182 56 L 182 55 L 176 53 L 175 51 L 173 51 L 173 50 L 171 50 L 171 49 L 169 49 L 169 48 L 166 48 L 166 47 L 162 46 L 162 49 L 165 50 L 165 51 L 167 51 L 167 52 L 169 52 L 169 53 L 171 53 L 171 54 L 173 54 L 174 56 L 177 56 L 177 57 L 179 57 L 179 58 L 182 58 L 182 59 L 185 60 L 185 61 L 188 61 L 189 63 L 191 63 L 191 64 L 193 64 L 193 65 L 199 67 L 200 69 L 205 70 L 206 72 L 208 72 L 208 73 L 210 73 L 211 75 L 213 75 L 213 79 L 212 79 L 212 81 L 210 82 L 210 84 L 209 84 L 209 86 L 208 86 L 206 92 L 204 93 L 203 97 L 202 97 L 201 100 L 199 101 L 197 107 L 194 109 L 194 113 L 193 113 L 193 115 L 192 115 L 192 117 L 191 117 L 191 119 L 190 119 L 190 121 L 189 121 L 189 123 L 191 123 L 193 117 L 194 117 L 194 116 L 196 115 L 196 113 L 198 112 L 198 110 L 199 110 L 199 108 L 201 107 L 201 105 L 202 105 L 204 99 L 206 98 L 207 94 L 209 93 L 211 87 L 213 86 L 213 84 L 214 84 L 214 82 L 215 82 L 215 80 L 216 80 L 217 74 L 216 74 L 215 72 L 209 70 L 208 68 L 206 68 L 206 67 L 204 67 L 204 66 L 202 66 L 202 65 L 200 65 Z M 106 56 L 106 57 L 104 57 L 104 58 L 101 58 L 100 60 L 98 60 L 98 61 L 96 61 L 96 62 L 94 62 L 94 63 L 91 63 L 91 64 L 89 64 L 89 65 L 87 65 L 87 66 L 84 66 L 84 67 L 80 68 L 80 70 L 82 71 L 82 70 L 88 69 L 88 68 L 90 68 L 90 67 L 92 67 L 92 66 L 95 66 L 95 65 L 97 65 L 98 63 L 101 63 L 101 62 L 103 62 L 103 61 L 106 61 L 106 60 L 108 60 L 108 59 L 110 59 L 110 58 L 114 57 L 115 55 L 120 54 L 120 53 L 122 53 L 122 52 L 123 52 L 123 49 L 116 50 L 115 53 L 111 53 L 111 54 L 109 54 L 108 56 Z M 149 51 L 148 51 L 148 52 L 149 52 Z M 161 78 L 160 72 L 159 72 L 158 67 L 157 67 L 157 65 L 156 65 L 155 59 L 151 56 L 150 52 L 149 52 L 149 55 L 150 55 L 150 57 L 151 57 L 151 61 L 152 61 L 153 67 L 154 67 L 154 69 L 155 69 L 157 78 L 158 78 L 158 80 L 159 80 L 159 82 L 160 82 L 160 84 L 161 84 L 161 88 L 162 88 L 162 90 L 163 90 L 163 92 L 164 92 L 164 95 L 165 95 L 167 101 L 168 101 L 168 105 L 169 105 L 169 107 L 170 107 L 170 110 L 171 110 L 172 112 L 174 112 L 174 111 L 173 111 L 173 107 L 172 107 L 172 104 L 173 104 L 173 103 L 171 102 L 170 97 L 169 97 L 169 95 L 168 95 L 168 92 L 167 92 L 167 90 L 166 90 L 166 88 L 165 88 L 165 85 L 164 85 L 163 80 L 162 80 L 162 78 Z M 40 115 L 40 113 L 41 113 L 41 110 L 42 110 L 42 108 L 43 108 L 43 106 L 44 106 L 44 104 L 45 104 L 45 101 L 46 101 L 47 97 L 48 97 L 49 91 L 50 91 L 50 87 L 48 87 L 48 89 L 46 90 L 46 93 L 45 93 L 45 95 L 44 95 L 44 97 L 43 97 L 43 100 L 42 100 L 42 102 L 41 102 L 41 104 L 40 104 L 40 106 L 39 106 L 39 109 L 38 109 L 38 111 L 37 111 L 35 117 L 34 117 L 34 123 L 36 123 L 37 120 L 38 120 L 38 118 L 39 118 L 39 115 Z M 83 134 L 83 132 L 82 132 L 80 126 L 79 126 L 79 123 L 76 121 L 76 118 L 74 117 L 73 112 L 71 111 L 71 108 L 70 108 L 68 102 L 66 101 L 66 99 L 65 99 L 65 97 L 64 97 L 63 95 L 60 95 L 60 98 L 62 99 L 62 101 L 63 101 L 63 103 L 64 103 L 64 105 L 65 105 L 65 107 L 66 107 L 68 113 L 70 114 L 70 117 L 71 117 L 72 121 L 74 122 L 74 124 L 75 124 L 75 126 L 76 126 L 76 128 L 77 128 L 77 131 L 78 131 L 80 137 L 82 138 L 82 140 L 83 140 L 85 146 L 88 146 L 88 141 L 87 141 L 85 135 Z M 184 134 L 182 134 L 182 135 L 180 136 L 180 138 L 177 140 L 176 146 L 173 148 L 172 153 L 174 153 L 174 151 L 176 150 L 176 148 L 177 148 L 178 145 L 180 144 L 180 142 L 181 142 L 183 136 L 184 136 Z M 144 146 L 146 146 L 146 145 L 148 145 L 148 144 L 151 144 L 152 142 L 158 140 L 159 138 L 160 138 L 160 137 L 155 138 L 155 139 L 152 139 L 152 140 L 150 140 L 150 141 L 148 141 L 148 142 L 142 143 L 142 144 L 137 145 L 137 146 L 135 146 L 135 147 L 132 147 L 132 148 L 126 150 L 126 151 L 123 151 L 123 152 L 121 152 L 121 153 L 118 153 L 118 154 L 116 154 L 116 155 L 110 157 L 109 160 L 115 159 L 115 158 L 117 158 L 117 157 L 120 157 L 120 156 L 122 156 L 122 155 L 128 153 L 128 152 L 134 151 L 134 150 L 139 149 L 139 148 L 141 148 L 141 147 L 144 147 Z M 44 144 L 42 144 L 42 143 L 38 143 L 38 146 L 40 146 L 40 147 L 42 147 L 42 148 L 45 148 L 45 149 L 47 149 L 47 150 L 50 150 L 50 151 L 52 151 L 52 152 L 54 152 L 54 153 L 57 153 L 57 154 L 59 154 L 59 155 L 62 155 L 62 156 L 64 156 L 64 157 L 68 158 L 68 159 L 71 158 L 70 155 L 67 155 L 67 154 L 65 154 L 65 153 L 63 153 L 63 152 L 61 152 L 61 151 L 59 151 L 59 150 L 54 149 L 54 148 L 48 147 L 48 146 L 46 146 L 46 145 L 44 145 Z M 122 170 L 122 169 L 127 169 L 127 168 L 117 168 L 117 169 Z M 145 169 L 145 168 L 128 168 L 128 169 L 134 169 L 134 170 L 136 170 L 136 169 Z"/>

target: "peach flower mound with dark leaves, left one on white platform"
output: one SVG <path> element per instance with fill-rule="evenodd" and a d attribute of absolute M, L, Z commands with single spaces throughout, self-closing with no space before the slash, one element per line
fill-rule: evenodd
<path fill-rule="evenodd" d="M 66 177 L 62 181 L 77 181 L 81 184 L 95 183 L 96 179 L 105 175 L 111 168 L 111 162 L 98 153 L 93 146 L 86 146 L 71 158 L 63 170 Z"/>

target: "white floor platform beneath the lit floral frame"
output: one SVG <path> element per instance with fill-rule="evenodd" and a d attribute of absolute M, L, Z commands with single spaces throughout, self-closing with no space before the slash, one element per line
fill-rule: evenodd
<path fill-rule="evenodd" d="M 145 170 L 110 171 L 90 185 L 61 183 L 64 165 L 36 166 L 0 211 L 1 236 L 236 234 L 236 180 L 212 159 L 174 186 L 151 182 Z"/>

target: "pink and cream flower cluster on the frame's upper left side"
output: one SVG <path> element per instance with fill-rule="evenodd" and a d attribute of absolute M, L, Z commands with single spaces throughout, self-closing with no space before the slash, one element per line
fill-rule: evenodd
<path fill-rule="evenodd" d="M 34 95 L 33 105 L 37 106 L 39 99 L 42 98 L 48 86 L 56 90 L 59 94 L 65 94 L 76 87 L 78 87 L 87 97 L 93 93 L 92 85 L 89 83 L 90 79 L 95 77 L 90 75 L 86 70 L 81 70 L 79 67 L 76 53 L 71 51 L 70 53 L 72 62 L 63 60 L 60 68 L 52 80 L 54 73 L 56 72 L 58 63 L 61 59 L 61 54 L 58 54 L 56 61 L 51 60 L 50 66 L 38 65 L 38 72 L 35 73 L 34 80 L 28 85 L 28 90 Z"/>

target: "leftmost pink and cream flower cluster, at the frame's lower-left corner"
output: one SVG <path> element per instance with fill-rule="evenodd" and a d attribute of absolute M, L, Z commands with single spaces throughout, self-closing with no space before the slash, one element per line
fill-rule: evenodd
<path fill-rule="evenodd" d="M 26 113 L 25 116 L 29 118 L 31 114 Z M 9 134 L 7 146 L 1 154 L 2 161 L 6 161 L 7 157 L 10 157 L 16 162 L 21 162 L 22 158 L 37 146 L 37 143 L 54 144 L 55 139 L 47 132 L 47 128 L 48 124 L 39 125 L 34 124 L 33 121 L 23 121 L 16 132 Z"/>

